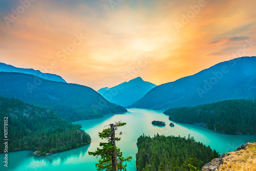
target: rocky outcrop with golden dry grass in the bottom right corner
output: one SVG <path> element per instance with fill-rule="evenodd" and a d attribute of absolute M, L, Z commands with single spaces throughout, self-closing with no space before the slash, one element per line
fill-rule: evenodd
<path fill-rule="evenodd" d="M 234 152 L 223 153 L 202 167 L 202 171 L 256 171 L 256 142 L 243 144 Z"/>

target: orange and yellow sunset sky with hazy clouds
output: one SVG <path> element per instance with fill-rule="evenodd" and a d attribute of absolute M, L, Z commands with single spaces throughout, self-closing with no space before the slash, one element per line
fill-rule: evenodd
<path fill-rule="evenodd" d="M 256 1 L 0 0 L 0 62 L 98 90 L 256 56 Z"/>

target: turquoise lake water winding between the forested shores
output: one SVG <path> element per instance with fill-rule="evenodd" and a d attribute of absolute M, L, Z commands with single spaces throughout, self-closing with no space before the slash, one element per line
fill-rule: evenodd
<path fill-rule="evenodd" d="M 154 136 L 160 135 L 175 135 L 175 136 L 194 136 L 196 141 L 210 145 L 212 149 L 222 154 L 229 151 L 234 151 L 241 144 L 256 141 L 256 135 L 224 135 L 214 131 L 204 129 L 203 127 L 175 123 L 174 127 L 170 127 L 168 116 L 162 114 L 163 111 L 153 111 L 144 109 L 129 109 L 128 112 L 119 115 L 106 116 L 100 119 L 83 120 L 74 123 L 80 123 L 82 129 L 90 134 L 92 143 L 70 151 L 52 154 L 44 157 L 35 157 L 30 153 L 32 151 L 19 151 L 8 153 L 9 163 L 8 169 L 4 167 L 4 154 L 0 154 L 1 166 L 0 170 L 96 170 L 95 163 L 97 159 L 88 155 L 89 152 L 94 152 L 102 141 L 98 137 L 98 132 L 104 129 L 105 125 L 114 123 L 115 121 L 126 122 L 124 127 L 120 127 L 117 133 L 122 132 L 121 141 L 117 146 L 123 151 L 123 156 L 132 156 L 133 160 L 127 163 L 128 171 L 135 171 L 135 154 L 137 153 L 137 138 L 142 135 Z M 164 127 L 158 127 L 151 124 L 153 120 L 160 120 L 166 123 Z"/>

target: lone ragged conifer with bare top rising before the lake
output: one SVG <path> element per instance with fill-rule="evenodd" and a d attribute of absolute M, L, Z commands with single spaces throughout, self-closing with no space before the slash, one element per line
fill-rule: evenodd
<path fill-rule="evenodd" d="M 120 148 L 116 146 L 116 141 L 120 141 L 120 138 L 115 137 L 115 131 L 118 127 L 124 126 L 126 123 L 117 122 L 115 124 L 110 124 L 108 129 L 103 129 L 99 133 L 101 139 L 107 139 L 108 142 L 100 142 L 99 146 L 102 148 L 97 148 L 95 152 L 89 152 L 89 155 L 100 156 L 99 163 L 96 163 L 97 170 L 124 170 L 126 171 L 126 165 L 123 164 L 124 161 L 131 161 L 132 156 L 127 158 L 122 157 L 122 152 Z"/>

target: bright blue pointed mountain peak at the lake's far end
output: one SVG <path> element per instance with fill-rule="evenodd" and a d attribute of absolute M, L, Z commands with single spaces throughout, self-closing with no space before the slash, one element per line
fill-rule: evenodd
<path fill-rule="evenodd" d="M 141 77 L 137 77 L 110 88 L 108 91 L 105 91 L 102 96 L 112 103 L 127 106 L 142 98 L 154 87 L 156 87 L 155 84 L 144 81 Z M 100 90 L 102 91 L 102 89 Z"/>

